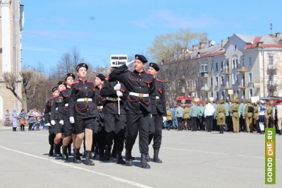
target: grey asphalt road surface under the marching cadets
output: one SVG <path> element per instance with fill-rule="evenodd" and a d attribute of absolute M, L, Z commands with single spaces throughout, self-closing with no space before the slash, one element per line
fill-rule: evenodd
<path fill-rule="evenodd" d="M 282 136 L 276 134 L 276 185 L 264 184 L 264 136 L 245 132 L 163 131 L 163 163 L 133 167 L 114 160 L 94 166 L 49 157 L 48 131 L 0 129 L 0 187 L 278 187 L 282 185 Z M 123 151 L 123 155 L 124 155 Z M 153 156 L 152 146 L 149 154 Z M 84 160 L 82 160 L 84 163 Z"/>

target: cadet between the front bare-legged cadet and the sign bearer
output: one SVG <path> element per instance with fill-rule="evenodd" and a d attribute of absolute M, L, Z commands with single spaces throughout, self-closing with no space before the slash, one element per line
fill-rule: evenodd
<path fill-rule="evenodd" d="M 92 137 L 92 148 L 91 151 L 94 152 L 94 146 L 99 148 L 99 160 L 109 160 L 111 154 L 111 146 L 106 146 L 106 132 L 104 127 L 104 101 L 105 98 L 101 96 L 100 92 L 103 87 L 106 77 L 103 74 L 97 74 L 95 78 L 95 88 L 94 88 L 94 98 L 97 104 L 97 110 L 99 113 L 99 131 L 93 132 Z M 106 153 L 104 153 L 106 149 Z M 92 156 L 94 158 L 94 156 Z"/>

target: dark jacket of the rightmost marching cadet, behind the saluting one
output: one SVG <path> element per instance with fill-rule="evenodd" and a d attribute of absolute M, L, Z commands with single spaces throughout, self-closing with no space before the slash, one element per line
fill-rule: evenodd
<path fill-rule="evenodd" d="M 164 84 L 157 78 L 154 80 L 154 84 L 156 86 L 156 99 L 154 102 L 156 105 L 152 106 L 152 114 L 157 114 L 157 112 L 159 112 L 166 117 L 166 95 L 164 93 Z M 159 99 L 157 99 L 157 97 L 159 97 Z"/>

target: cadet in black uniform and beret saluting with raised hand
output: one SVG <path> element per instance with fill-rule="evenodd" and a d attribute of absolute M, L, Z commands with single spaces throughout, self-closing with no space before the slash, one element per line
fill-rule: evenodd
<path fill-rule="evenodd" d="M 132 62 L 130 62 L 131 64 Z M 132 166 L 131 151 L 139 130 L 139 149 L 141 153 L 141 168 L 150 168 L 145 160 L 148 154 L 149 122 L 152 117 L 151 102 L 155 99 L 155 85 L 152 74 L 147 74 L 144 67 L 147 59 L 139 54 L 135 55 L 134 71 L 128 71 L 128 66 L 122 65 L 109 74 L 110 78 L 121 81 L 128 90 L 125 100 L 126 122 L 128 132 L 125 141 L 125 162 Z M 152 104 L 154 105 L 154 104 Z"/>

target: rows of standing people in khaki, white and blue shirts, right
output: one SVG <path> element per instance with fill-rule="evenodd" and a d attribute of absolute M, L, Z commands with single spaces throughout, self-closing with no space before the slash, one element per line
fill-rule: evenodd
<path fill-rule="evenodd" d="M 257 131 L 264 134 L 265 128 L 276 128 L 281 135 L 282 123 L 282 99 L 276 102 L 258 100 L 219 100 L 195 102 L 191 105 L 178 104 L 175 107 L 167 107 L 168 121 L 166 129 L 183 129 L 192 131 L 224 131 L 238 133 Z"/>

